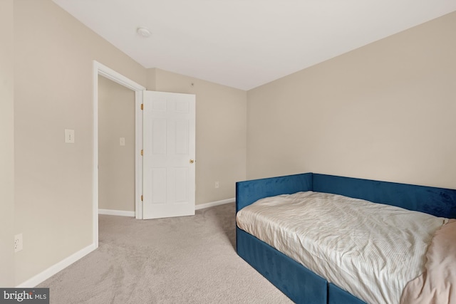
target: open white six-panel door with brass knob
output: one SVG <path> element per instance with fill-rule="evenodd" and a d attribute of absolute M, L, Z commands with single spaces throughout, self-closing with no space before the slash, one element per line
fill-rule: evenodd
<path fill-rule="evenodd" d="M 142 218 L 195 214 L 195 95 L 144 91 Z"/>

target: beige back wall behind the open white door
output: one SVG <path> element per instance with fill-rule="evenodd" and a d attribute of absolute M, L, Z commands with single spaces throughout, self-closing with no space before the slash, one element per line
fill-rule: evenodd
<path fill-rule="evenodd" d="M 157 91 L 196 95 L 196 204 L 234 198 L 246 178 L 247 92 L 160 69 L 147 75 Z"/>

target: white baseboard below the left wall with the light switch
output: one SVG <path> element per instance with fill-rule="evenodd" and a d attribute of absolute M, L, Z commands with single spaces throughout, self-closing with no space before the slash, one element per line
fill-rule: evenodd
<path fill-rule="evenodd" d="M 33 288 L 39 283 L 46 281 L 51 276 L 55 275 L 59 271 L 62 271 L 64 268 L 70 266 L 72 263 L 78 261 L 80 258 L 83 258 L 88 253 L 94 251 L 97 247 L 95 244 L 89 245 L 86 248 L 81 249 L 80 251 L 73 253 L 68 258 L 63 259 L 62 261 L 54 264 L 53 266 L 47 268 L 45 271 L 38 273 L 33 278 L 28 279 L 27 281 L 17 285 L 17 288 Z"/>

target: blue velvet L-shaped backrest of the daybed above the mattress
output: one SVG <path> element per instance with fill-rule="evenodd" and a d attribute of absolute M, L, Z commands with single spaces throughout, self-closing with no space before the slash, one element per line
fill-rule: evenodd
<path fill-rule="evenodd" d="M 456 190 L 304 173 L 236 183 L 236 211 L 266 196 L 300 191 L 341 194 L 456 219 Z"/>

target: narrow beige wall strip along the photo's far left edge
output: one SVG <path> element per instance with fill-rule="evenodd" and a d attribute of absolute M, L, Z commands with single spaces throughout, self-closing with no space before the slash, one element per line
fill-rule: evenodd
<path fill-rule="evenodd" d="M 14 287 L 13 0 L 0 1 L 0 286 Z"/>

